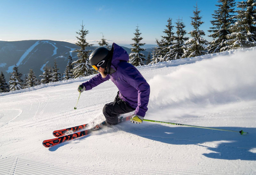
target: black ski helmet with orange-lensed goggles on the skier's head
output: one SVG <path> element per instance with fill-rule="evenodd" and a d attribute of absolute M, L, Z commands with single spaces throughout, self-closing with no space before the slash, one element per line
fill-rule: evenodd
<path fill-rule="evenodd" d="M 105 47 L 99 47 L 90 54 L 89 62 L 94 69 L 98 70 L 99 67 L 106 68 L 109 57 L 110 51 Z"/>

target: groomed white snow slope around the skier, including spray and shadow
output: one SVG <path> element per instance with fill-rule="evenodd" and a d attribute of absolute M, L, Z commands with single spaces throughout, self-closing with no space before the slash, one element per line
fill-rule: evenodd
<path fill-rule="evenodd" d="M 139 66 L 150 84 L 145 119 L 45 148 L 52 131 L 102 121 L 114 100 L 92 76 L 0 94 L 0 174 L 256 174 L 256 48 Z"/>

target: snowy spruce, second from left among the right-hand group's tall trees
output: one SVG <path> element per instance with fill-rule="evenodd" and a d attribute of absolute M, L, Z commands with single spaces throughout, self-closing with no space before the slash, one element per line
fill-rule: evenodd
<path fill-rule="evenodd" d="M 178 19 L 176 24 L 176 34 L 177 36 L 174 36 L 175 43 L 172 44 L 170 51 L 166 53 L 164 60 L 172 60 L 172 59 L 180 59 L 182 58 L 182 55 L 184 54 L 184 42 L 188 40 L 188 37 L 184 37 L 184 35 L 187 33 L 184 28 L 186 27 L 185 24 L 182 22 L 182 19 Z"/>

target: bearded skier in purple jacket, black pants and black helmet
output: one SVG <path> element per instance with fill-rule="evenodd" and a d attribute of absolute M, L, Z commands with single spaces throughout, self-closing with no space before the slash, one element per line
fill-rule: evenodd
<path fill-rule="evenodd" d="M 132 123 L 142 123 L 148 110 L 150 86 L 132 64 L 129 55 L 119 45 L 113 43 L 111 50 L 104 47 L 95 49 L 89 57 L 91 66 L 99 72 L 96 76 L 79 85 L 78 91 L 91 90 L 95 86 L 111 79 L 117 86 L 115 100 L 103 107 L 106 122 L 118 123 L 118 115 L 134 111 Z"/>

